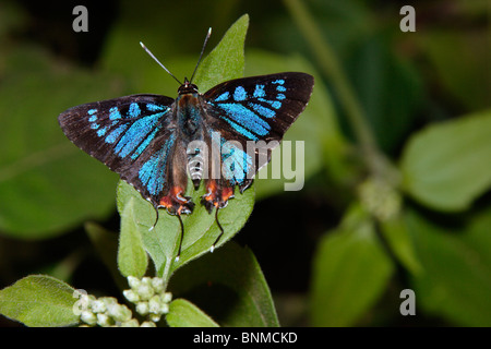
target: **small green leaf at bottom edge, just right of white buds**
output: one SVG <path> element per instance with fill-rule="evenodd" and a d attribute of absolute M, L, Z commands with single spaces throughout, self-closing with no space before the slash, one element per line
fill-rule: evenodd
<path fill-rule="evenodd" d="M 176 299 L 169 304 L 166 321 L 170 327 L 219 327 L 201 309 L 185 299 Z"/>

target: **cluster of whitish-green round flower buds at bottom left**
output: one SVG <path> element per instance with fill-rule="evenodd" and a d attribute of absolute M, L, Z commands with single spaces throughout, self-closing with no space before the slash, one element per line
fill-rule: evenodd
<path fill-rule="evenodd" d="M 128 277 L 129 290 L 124 297 L 135 304 L 140 315 L 148 316 L 148 321 L 139 323 L 131 310 L 119 304 L 116 298 L 96 298 L 84 290 L 75 290 L 73 297 L 77 299 L 73 305 L 73 313 L 80 316 L 85 326 L 101 327 L 155 327 L 161 315 L 169 311 L 171 293 L 165 292 L 164 279 L 144 277 L 142 279 Z"/>

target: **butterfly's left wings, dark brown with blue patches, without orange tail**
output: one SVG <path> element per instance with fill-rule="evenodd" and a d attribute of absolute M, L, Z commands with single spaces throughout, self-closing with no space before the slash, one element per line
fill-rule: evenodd
<path fill-rule="evenodd" d="M 172 104 L 165 96 L 133 95 L 77 106 L 58 120 L 70 141 L 156 205 L 167 190 L 176 144 Z"/>

